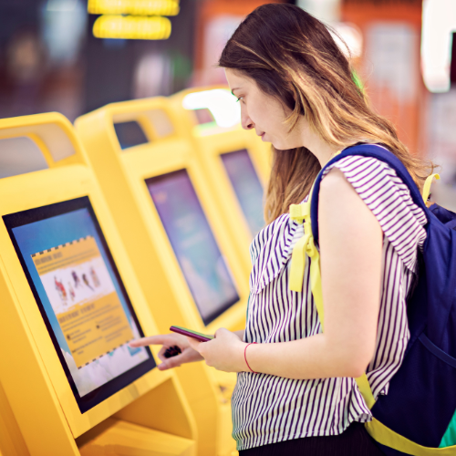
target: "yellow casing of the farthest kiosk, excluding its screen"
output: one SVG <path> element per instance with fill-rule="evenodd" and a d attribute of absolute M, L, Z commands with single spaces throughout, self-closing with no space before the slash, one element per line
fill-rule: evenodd
<path fill-rule="evenodd" d="M 214 197 L 219 206 L 223 208 L 222 216 L 230 228 L 232 243 L 235 245 L 238 255 L 243 258 L 244 270 L 250 274 L 252 262 L 249 246 L 254 238 L 254 233 L 248 226 L 221 156 L 237 150 L 247 150 L 254 170 L 265 190 L 271 171 L 271 144 L 258 138 L 254 130 L 243 130 L 241 124 L 236 124 L 231 128 L 221 128 L 215 122 L 199 125 L 194 110 L 183 108 L 183 100 L 186 96 L 216 89 L 229 91 L 227 87 L 188 88 L 173 95 L 171 105 L 175 110 L 175 116 L 172 119 L 176 125 L 181 126 L 180 131 L 184 137 L 192 141 Z"/>

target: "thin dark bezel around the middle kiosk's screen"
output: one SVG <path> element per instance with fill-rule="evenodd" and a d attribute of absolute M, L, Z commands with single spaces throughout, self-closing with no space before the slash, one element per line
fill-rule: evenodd
<path fill-rule="evenodd" d="M 188 178 L 188 180 L 190 181 L 191 185 L 192 185 L 192 189 L 193 189 L 193 192 L 195 193 L 196 195 L 196 200 L 197 202 L 200 204 L 200 207 L 202 209 L 202 214 L 204 215 L 204 219 L 206 221 L 206 223 L 209 225 L 209 228 L 211 229 L 211 233 L 212 233 L 212 228 L 211 228 L 211 223 L 209 223 L 209 220 L 207 219 L 207 216 L 204 212 L 204 208 L 202 207 L 202 203 L 200 201 L 200 198 L 198 197 L 198 193 L 196 192 L 196 189 L 193 185 L 193 182 L 192 182 L 192 178 L 190 177 L 190 174 L 189 172 L 185 169 L 185 168 L 182 168 L 181 170 L 176 170 L 176 171 L 171 171 L 171 172 L 167 172 L 165 174 L 160 174 L 158 176 L 152 176 L 148 179 L 145 179 L 145 183 L 146 183 L 146 187 L 147 187 L 147 190 L 149 192 L 149 195 L 150 195 L 150 201 L 152 202 L 152 204 L 155 206 L 155 210 L 157 211 L 159 217 L 160 217 L 160 220 L 161 220 L 161 216 L 160 216 L 160 212 L 155 204 L 155 202 L 153 201 L 153 198 L 152 198 L 152 195 L 150 194 L 150 190 L 149 190 L 149 183 L 156 183 L 156 182 L 160 182 L 160 181 L 166 181 L 168 179 L 172 179 L 172 176 L 176 176 L 176 175 L 179 175 L 179 174 L 185 174 L 186 177 Z M 173 243 L 171 242 L 171 239 L 170 239 L 170 236 L 168 235 L 168 232 L 166 230 L 166 227 L 163 223 L 163 221 L 161 220 L 161 224 L 163 226 L 163 230 L 165 231 L 167 237 L 168 237 L 168 241 L 170 242 L 171 244 L 171 248 L 172 248 L 172 252 L 174 253 L 174 256 L 176 258 L 176 261 L 178 262 L 178 264 L 181 266 L 180 262 L 179 262 L 179 258 L 176 254 L 176 251 L 177 249 L 175 248 L 175 246 L 173 245 Z M 217 244 L 217 247 L 219 248 L 219 251 L 220 253 L 222 254 L 222 249 L 220 248 L 220 245 L 219 243 L 217 243 L 217 239 L 215 238 L 215 236 L 213 235 L 212 233 L 212 236 L 213 236 L 213 240 L 215 241 L 215 244 Z M 227 264 L 227 267 L 229 265 Z M 200 316 L 200 318 L 202 319 L 202 323 L 204 324 L 204 326 L 208 326 L 210 323 L 212 323 L 213 320 L 215 320 L 216 318 L 218 318 L 219 316 L 221 316 L 225 311 L 227 311 L 230 307 L 234 306 L 236 303 L 239 302 L 239 300 L 241 299 L 241 296 L 239 295 L 239 291 L 237 289 L 237 286 L 236 286 L 236 283 L 234 282 L 233 280 L 233 287 L 234 289 L 236 290 L 236 294 L 237 294 L 237 298 L 234 298 L 232 300 L 229 300 L 229 301 L 226 301 L 226 303 L 223 304 L 223 306 L 217 308 L 214 312 L 212 312 L 211 314 L 209 314 L 209 316 L 206 316 L 205 318 L 202 317 L 201 315 L 201 312 L 200 312 L 200 309 L 198 307 L 198 305 L 196 304 L 196 300 L 195 300 L 195 296 L 193 295 L 192 293 L 192 287 L 190 286 L 189 284 L 189 281 L 187 280 L 187 277 L 186 275 L 183 273 L 182 269 L 181 269 L 181 273 L 185 279 L 185 283 L 187 284 L 187 286 L 189 287 L 189 291 L 192 295 L 192 298 L 193 298 L 193 302 L 195 303 L 195 307 L 196 309 L 198 310 L 198 315 Z"/>

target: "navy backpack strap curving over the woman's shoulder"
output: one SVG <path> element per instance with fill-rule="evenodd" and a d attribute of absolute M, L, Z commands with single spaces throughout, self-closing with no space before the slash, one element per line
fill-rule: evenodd
<path fill-rule="evenodd" d="M 318 173 L 316 178 L 314 188 L 312 191 L 312 202 L 310 208 L 310 218 L 312 221 L 312 233 L 314 235 L 315 244 L 318 244 L 318 192 L 320 191 L 320 183 L 323 179 L 324 173 L 328 167 L 345 159 L 347 156 L 350 155 L 359 155 L 362 157 L 372 157 L 379 161 L 384 161 L 396 171 L 399 179 L 404 182 L 405 185 L 409 188 L 410 196 L 413 202 L 419 206 L 423 211 L 426 213 L 428 212 L 428 208 L 426 207 L 425 202 L 423 201 L 422 196 L 420 195 L 420 191 L 418 190 L 415 181 L 411 178 L 409 171 L 407 168 L 402 164 L 402 162 L 389 150 L 386 150 L 383 147 L 377 146 L 375 144 L 362 144 L 359 146 L 349 147 L 345 150 L 342 150 L 339 154 L 336 155 L 333 159 L 328 161 L 323 169 Z"/>

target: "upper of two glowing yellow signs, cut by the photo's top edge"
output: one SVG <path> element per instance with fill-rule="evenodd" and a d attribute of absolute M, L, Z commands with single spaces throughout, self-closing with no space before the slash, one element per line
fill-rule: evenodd
<path fill-rule="evenodd" d="M 88 0 L 91 15 L 176 16 L 179 0 Z"/>

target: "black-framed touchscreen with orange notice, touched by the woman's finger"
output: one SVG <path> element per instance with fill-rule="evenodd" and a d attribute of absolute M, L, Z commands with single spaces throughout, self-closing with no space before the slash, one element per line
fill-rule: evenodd
<path fill-rule="evenodd" d="M 155 367 L 87 197 L 4 220 L 82 412 Z"/>

